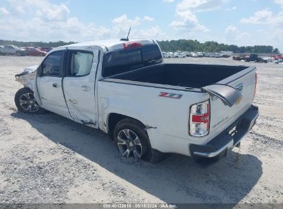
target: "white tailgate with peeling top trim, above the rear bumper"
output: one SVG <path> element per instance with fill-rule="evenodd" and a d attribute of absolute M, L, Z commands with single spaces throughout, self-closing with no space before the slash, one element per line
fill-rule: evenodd
<path fill-rule="evenodd" d="M 215 85 L 202 87 L 210 95 L 210 136 L 214 137 L 237 120 L 253 102 L 256 68 L 234 74 Z"/>

